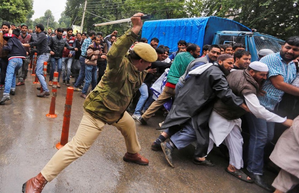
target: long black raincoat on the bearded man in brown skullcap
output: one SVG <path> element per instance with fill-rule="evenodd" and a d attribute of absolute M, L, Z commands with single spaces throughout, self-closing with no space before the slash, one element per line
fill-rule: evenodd
<path fill-rule="evenodd" d="M 218 65 L 212 65 L 202 74 L 190 75 L 172 105 L 161 129 L 176 130 L 192 120 L 197 145 L 194 157 L 207 155 L 209 145 L 208 121 L 213 104 L 220 98 L 227 105 L 241 105 L 243 100 L 232 93 L 226 77 Z"/>

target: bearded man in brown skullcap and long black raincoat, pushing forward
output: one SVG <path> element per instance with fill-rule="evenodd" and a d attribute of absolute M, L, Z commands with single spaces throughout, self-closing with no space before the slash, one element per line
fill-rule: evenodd
<path fill-rule="evenodd" d="M 229 106 L 240 106 L 249 111 L 240 97 L 232 93 L 225 75 L 233 67 L 233 58 L 222 54 L 217 63 L 197 67 L 188 74 L 190 78 L 180 89 L 161 129 L 170 136 L 170 142 L 161 143 L 168 163 L 174 167 L 172 152 L 197 140 L 193 163 L 213 166 L 205 159 L 209 144 L 208 120 L 215 99 L 220 98 Z M 179 131 L 178 131 L 179 130 Z"/>

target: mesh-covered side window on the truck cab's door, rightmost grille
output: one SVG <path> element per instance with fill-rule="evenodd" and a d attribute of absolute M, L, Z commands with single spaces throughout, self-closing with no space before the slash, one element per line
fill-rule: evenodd
<path fill-rule="evenodd" d="M 255 35 L 253 38 L 257 51 L 260 51 L 261 49 L 270 49 L 276 53 L 279 52 L 281 45 L 284 43 L 283 41 L 279 41 L 264 35 Z"/>

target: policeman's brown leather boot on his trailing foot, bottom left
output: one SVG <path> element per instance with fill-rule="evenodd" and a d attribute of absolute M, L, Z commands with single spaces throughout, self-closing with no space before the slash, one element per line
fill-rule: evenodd
<path fill-rule="evenodd" d="M 40 193 L 45 187 L 48 181 L 39 173 L 34 178 L 31 178 L 26 183 L 23 184 L 22 192 L 23 193 Z"/>

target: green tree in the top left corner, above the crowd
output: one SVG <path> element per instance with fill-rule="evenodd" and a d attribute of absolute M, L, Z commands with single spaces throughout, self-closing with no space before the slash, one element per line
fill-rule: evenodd
<path fill-rule="evenodd" d="M 23 23 L 34 14 L 32 0 L 2 0 L 0 18 L 13 23 Z"/>

